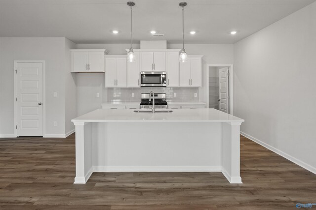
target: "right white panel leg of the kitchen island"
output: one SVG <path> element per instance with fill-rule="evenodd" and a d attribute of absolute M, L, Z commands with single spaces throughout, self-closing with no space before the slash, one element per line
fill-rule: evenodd
<path fill-rule="evenodd" d="M 242 183 L 239 127 L 239 122 L 222 123 L 222 173 L 230 183 Z"/>

